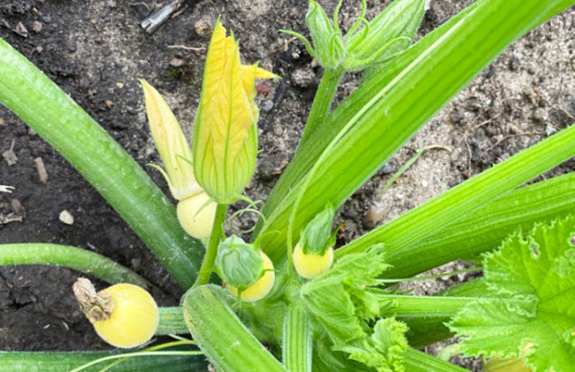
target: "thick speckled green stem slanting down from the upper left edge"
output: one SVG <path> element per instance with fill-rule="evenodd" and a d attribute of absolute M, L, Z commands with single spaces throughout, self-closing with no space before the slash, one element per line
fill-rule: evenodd
<path fill-rule="evenodd" d="M 4 40 L 0 103 L 70 161 L 176 282 L 183 288 L 194 283 L 202 244 L 180 228 L 172 203 L 87 112 Z"/>

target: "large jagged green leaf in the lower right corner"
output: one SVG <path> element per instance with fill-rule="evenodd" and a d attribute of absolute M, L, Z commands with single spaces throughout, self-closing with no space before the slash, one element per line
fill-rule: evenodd
<path fill-rule="evenodd" d="M 536 224 L 486 255 L 488 300 L 456 314 L 449 327 L 465 354 L 523 358 L 535 370 L 575 365 L 575 217 Z"/>

